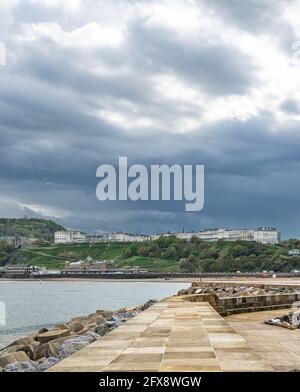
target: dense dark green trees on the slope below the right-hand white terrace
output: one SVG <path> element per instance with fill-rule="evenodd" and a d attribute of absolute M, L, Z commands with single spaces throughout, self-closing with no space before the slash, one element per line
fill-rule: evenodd
<path fill-rule="evenodd" d="M 289 257 L 288 250 L 300 249 L 300 241 L 291 239 L 278 245 L 258 242 L 205 242 L 194 237 L 183 241 L 175 236 L 160 237 L 156 241 L 131 244 L 126 258 L 135 256 L 180 261 L 186 272 L 290 272 L 300 270 L 300 257 Z"/>

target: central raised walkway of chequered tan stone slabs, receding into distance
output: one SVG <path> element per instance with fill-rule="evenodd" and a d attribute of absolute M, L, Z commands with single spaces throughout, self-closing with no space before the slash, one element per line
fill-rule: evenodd
<path fill-rule="evenodd" d="M 151 306 L 49 369 L 51 372 L 273 370 L 208 303 L 172 301 Z"/>

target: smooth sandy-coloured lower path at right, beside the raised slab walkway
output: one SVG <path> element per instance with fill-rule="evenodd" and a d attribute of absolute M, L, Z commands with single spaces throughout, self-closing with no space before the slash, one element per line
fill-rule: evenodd
<path fill-rule="evenodd" d="M 243 313 L 228 316 L 232 326 L 276 371 L 300 369 L 300 329 L 289 330 L 264 324 L 264 320 L 292 309 Z"/>

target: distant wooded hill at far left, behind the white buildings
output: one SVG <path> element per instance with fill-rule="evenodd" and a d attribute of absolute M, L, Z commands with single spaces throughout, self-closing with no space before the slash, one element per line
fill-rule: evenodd
<path fill-rule="evenodd" d="M 46 219 L 0 218 L 0 237 L 32 237 L 45 241 L 53 241 L 54 232 L 65 230 L 63 226 Z"/>

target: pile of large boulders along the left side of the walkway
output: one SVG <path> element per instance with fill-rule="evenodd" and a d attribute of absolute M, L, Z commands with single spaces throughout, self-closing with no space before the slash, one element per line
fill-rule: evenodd
<path fill-rule="evenodd" d="M 158 302 L 148 300 L 116 311 L 97 309 L 85 316 L 42 328 L 0 348 L 0 372 L 44 372 Z"/>

